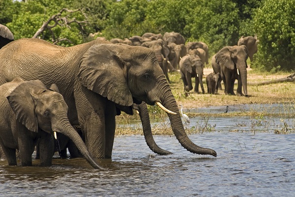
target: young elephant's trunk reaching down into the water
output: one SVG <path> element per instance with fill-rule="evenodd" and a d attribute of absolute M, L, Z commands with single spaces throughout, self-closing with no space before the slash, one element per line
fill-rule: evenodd
<path fill-rule="evenodd" d="M 52 126 L 53 131 L 57 131 L 68 138 L 70 138 L 75 145 L 78 147 L 84 158 L 87 160 L 87 162 L 94 168 L 94 169 L 104 169 L 99 164 L 97 164 L 94 159 L 91 157 L 89 151 L 87 150 L 87 147 L 84 143 L 84 141 L 81 139 L 77 131 L 73 128 L 73 126 L 70 124 L 67 118 L 58 118 L 58 124 L 59 126 Z"/>

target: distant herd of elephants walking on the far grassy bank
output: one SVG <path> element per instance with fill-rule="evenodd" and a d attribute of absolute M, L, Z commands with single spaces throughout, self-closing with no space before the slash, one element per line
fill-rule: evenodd
<path fill-rule="evenodd" d="M 104 39 L 98 37 L 97 39 Z M 205 64 L 208 65 L 208 46 L 204 42 L 187 42 L 177 32 L 166 32 L 164 35 L 145 33 L 142 36 L 130 38 L 111 39 L 110 42 L 123 43 L 130 46 L 142 46 L 150 48 L 157 58 L 157 61 L 164 72 L 169 84 L 169 71 L 179 71 L 184 85 L 184 91 L 193 89 L 191 78 L 195 78 L 194 92 L 199 93 L 199 84 L 202 93 L 205 93 L 203 85 L 203 71 Z M 213 73 L 206 77 L 207 92 L 217 94 L 218 88 L 222 90 L 221 81 L 224 84 L 225 94 L 235 95 L 234 84 L 237 80 L 238 96 L 248 95 L 247 92 L 247 63 L 248 56 L 253 60 L 257 52 L 257 36 L 242 36 L 236 46 L 226 46 L 212 56 L 211 65 Z M 243 93 L 242 93 L 243 88 Z"/>

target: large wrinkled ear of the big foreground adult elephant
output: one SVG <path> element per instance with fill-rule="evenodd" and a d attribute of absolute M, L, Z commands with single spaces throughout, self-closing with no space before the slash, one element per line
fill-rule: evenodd
<path fill-rule="evenodd" d="M 129 91 L 124 65 L 121 58 L 128 52 L 129 46 L 99 44 L 90 47 L 80 62 L 79 77 L 81 83 L 109 100 L 122 105 L 133 104 Z"/>

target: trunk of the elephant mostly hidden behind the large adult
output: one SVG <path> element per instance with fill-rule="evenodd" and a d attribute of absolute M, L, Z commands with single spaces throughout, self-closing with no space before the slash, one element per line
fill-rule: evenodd
<path fill-rule="evenodd" d="M 151 133 L 147 104 L 142 102 L 140 105 L 133 105 L 133 108 L 139 111 L 140 119 L 143 124 L 144 136 L 150 150 L 159 155 L 172 154 L 171 152 L 160 148 L 154 141 Z"/>

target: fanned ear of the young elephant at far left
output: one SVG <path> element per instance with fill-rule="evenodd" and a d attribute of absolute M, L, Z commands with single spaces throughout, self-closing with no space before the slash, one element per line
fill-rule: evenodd
<path fill-rule="evenodd" d="M 41 81 L 31 80 L 18 85 L 7 96 L 8 102 L 16 114 L 16 119 L 33 132 L 38 132 L 38 123 L 32 94 L 44 90 L 46 90 L 46 87 Z"/>

